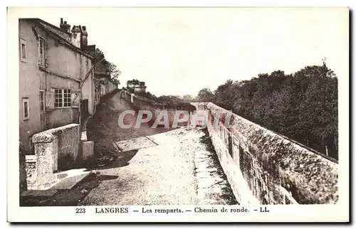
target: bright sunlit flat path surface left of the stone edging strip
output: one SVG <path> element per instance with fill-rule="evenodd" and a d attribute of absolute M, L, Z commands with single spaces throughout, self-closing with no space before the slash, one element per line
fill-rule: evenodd
<path fill-rule="evenodd" d="M 184 129 L 151 136 L 156 145 L 127 151 L 127 165 L 101 169 L 100 174 L 117 176 L 103 181 L 81 202 L 82 205 L 196 204 L 194 154 L 182 151 L 179 137 Z"/>

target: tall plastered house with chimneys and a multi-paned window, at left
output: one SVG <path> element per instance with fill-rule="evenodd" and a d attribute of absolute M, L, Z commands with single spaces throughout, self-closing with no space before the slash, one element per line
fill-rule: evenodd
<path fill-rule="evenodd" d="M 85 26 L 61 18 L 59 28 L 39 18 L 19 19 L 19 130 L 26 154 L 31 137 L 46 129 L 93 115 L 95 95 L 93 55 Z"/>

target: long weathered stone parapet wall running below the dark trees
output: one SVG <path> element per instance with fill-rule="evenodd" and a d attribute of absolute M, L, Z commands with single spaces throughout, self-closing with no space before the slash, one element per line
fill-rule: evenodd
<path fill-rule="evenodd" d="M 337 202 L 336 161 L 211 102 L 192 105 L 209 111 L 211 142 L 240 203 Z M 219 113 L 231 115 L 229 127 Z"/>

